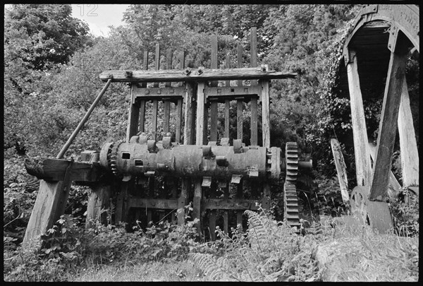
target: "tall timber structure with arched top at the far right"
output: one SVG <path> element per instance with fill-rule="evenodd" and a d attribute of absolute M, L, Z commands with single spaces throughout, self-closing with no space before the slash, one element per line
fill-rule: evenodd
<path fill-rule="evenodd" d="M 396 196 L 403 189 L 418 195 L 419 155 L 405 79 L 407 59 L 413 53 L 419 53 L 419 8 L 415 5 L 364 7 L 343 46 L 345 67 L 341 66 L 338 84 L 345 86 L 348 83 L 357 178 L 357 189 L 351 193 L 351 207 L 353 213 L 380 232 L 392 228 L 386 205 L 388 196 Z M 367 134 L 363 98 L 382 89 L 384 100 L 374 145 Z M 391 172 L 397 132 L 403 186 Z M 331 143 L 345 201 L 343 158 L 336 151 L 336 140 Z"/>

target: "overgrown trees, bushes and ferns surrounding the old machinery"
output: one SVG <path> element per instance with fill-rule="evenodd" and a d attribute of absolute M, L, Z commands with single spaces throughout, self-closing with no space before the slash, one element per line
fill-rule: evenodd
<path fill-rule="evenodd" d="M 102 88 L 98 80 L 102 71 L 141 69 L 142 52 L 147 49 L 153 54 L 157 43 L 164 49 L 184 50 L 187 66 L 209 67 L 209 36 L 215 32 L 219 33 L 219 65 L 224 61 L 223 49 L 234 52 L 238 43 L 245 49 L 243 61 L 247 63 L 250 28 L 257 27 L 259 64 L 298 73 L 295 80 L 272 81 L 271 145 L 281 147 L 287 141 L 296 141 L 305 154 L 302 159 L 317 162 L 311 175 L 299 179 L 298 188 L 300 210 L 306 214 L 303 225 L 317 229 L 314 220 L 318 213 L 334 217 L 348 214 L 335 177 L 329 138 L 350 138 L 352 133 L 350 102 L 336 97 L 336 74 L 343 64 L 343 40 L 360 8 L 312 4 L 131 5 L 124 16 L 127 26 L 112 28 L 109 37 L 94 37 L 85 23 L 71 17 L 70 5 L 11 6 L 4 18 L 4 280 L 73 280 L 75 275 L 86 275 L 88 269 L 97 272 L 99 268 L 122 265 L 126 269 L 146 261 L 154 261 L 154 265 L 182 263 L 178 264 L 182 270 L 177 271 L 176 280 L 321 280 L 323 270 L 317 268 L 314 251 L 320 242 L 333 239 L 333 233 L 320 230 L 319 235 L 303 236 L 276 222 L 274 218 L 281 220 L 283 213 L 283 197 L 276 189 L 272 189 L 274 217 L 247 211 L 247 232 L 233 229 L 228 236 L 217 230 L 217 242 L 202 243 L 195 222 L 184 227 L 162 222 L 146 230 L 135 227 L 133 232 L 125 231 L 124 225 L 93 222 L 85 230 L 89 189 L 72 186 L 65 215 L 41 237 L 42 247 L 21 249 L 19 244 L 37 197 L 37 180 L 25 172 L 23 161 L 25 157 L 55 157 L 59 153 Z M 150 57 L 149 62 L 152 68 L 153 59 Z M 174 54 L 173 65 L 178 64 L 178 55 Z M 231 65 L 235 66 L 235 59 Z M 407 62 L 412 102 L 418 102 L 418 80 L 419 59 L 414 55 Z M 126 85 L 111 85 L 65 157 L 78 159 L 82 150 L 99 150 L 104 142 L 123 138 L 128 94 Z M 411 108 L 418 142 L 418 104 Z M 380 98 L 365 102 L 372 136 L 377 135 L 380 109 Z M 235 120 L 235 105 L 230 112 Z M 243 139 L 248 144 L 250 121 L 248 116 L 244 118 Z M 219 122 L 220 131 L 222 126 Z M 235 130 L 231 130 L 233 133 Z M 353 148 L 341 145 L 352 188 Z M 398 146 L 393 172 L 400 181 Z M 405 196 L 407 201 L 400 198 L 390 202 L 395 232 L 415 239 L 419 237 L 419 201 L 412 194 Z M 410 270 L 410 277 L 417 277 L 418 247 L 414 240 L 395 248 L 395 239 L 381 248 L 394 248 L 395 258 L 388 251 L 379 251 L 348 266 L 355 268 L 351 273 L 358 266 L 364 270 L 354 272 L 355 276 L 338 275 L 337 279 L 380 280 L 368 273 L 381 270 L 376 264 L 390 260 L 392 269 L 402 266 Z M 378 247 L 368 242 L 365 245 L 367 253 Z M 388 278 L 403 278 L 394 274 Z"/>

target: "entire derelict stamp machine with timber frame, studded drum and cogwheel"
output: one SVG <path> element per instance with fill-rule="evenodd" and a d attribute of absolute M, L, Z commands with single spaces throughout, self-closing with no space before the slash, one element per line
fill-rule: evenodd
<path fill-rule="evenodd" d="M 173 56 L 167 50 L 166 71 L 159 71 L 160 47 L 157 44 L 155 71 L 148 70 L 148 52 L 145 52 L 143 71 L 101 73 L 99 78 L 106 82 L 106 86 L 56 159 L 25 163 L 27 171 L 42 182 L 24 242 L 48 230 L 63 213 L 72 181 L 92 186 L 87 224 L 91 218 L 102 219 L 102 209 L 109 207 L 113 197 L 117 200 L 116 223 L 128 221 L 130 210 L 133 210 L 137 220 L 145 214 L 147 222 L 152 221 L 154 214 L 159 220 L 164 220 L 166 212 L 171 213 L 173 222 L 177 220 L 178 224 L 183 224 L 184 207 L 189 203 L 188 198 L 192 198 L 192 216 L 200 219 L 198 230 L 204 229 L 202 214 L 207 210 L 209 237 L 215 239 L 216 210 L 223 211 L 225 232 L 228 232 L 228 213 L 231 210 L 236 213 L 237 224 L 242 223 L 243 210 L 257 210 L 257 202 L 269 210 L 270 186 L 279 184 L 281 172 L 285 172 L 285 184 L 279 188 L 284 193 L 285 218 L 290 225 L 298 226 L 295 183 L 298 170 L 310 169 L 312 162 L 298 160 L 297 143 L 286 143 L 285 154 L 281 153 L 281 148 L 270 146 L 269 115 L 270 79 L 295 78 L 296 74 L 271 71 L 266 65 L 257 67 L 255 28 L 251 30 L 250 48 L 250 68 L 243 68 L 240 44 L 236 50 L 237 68 L 231 68 L 229 51 L 226 51 L 224 68 L 218 68 L 217 35 L 214 35 L 211 69 L 186 68 L 184 52 L 180 54 L 179 69 L 171 69 Z M 250 85 L 245 85 L 246 80 L 250 81 Z M 224 85 L 218 84 L 218 81 Z M 81 153 L 82 162 L 63 160 L 66 149 L 111 82 L 130 85 L 125 138 L 105 143 L 100 152 Z M 230 138 L 229 109 L 233 101 L 237 111 L 236 138 Z M 147 105 L 151 108 L 147 109 Z M 219 105 L 224 105 L 225 126 L 221 138 L 217 131 Z M 260 106 L 261 134 L 257 124 Z M 243 142 L 245 108 L 251 114 L 250 134 L 247 134 L 249 145 Z M 151 114 L 147 114 L 147 110 Z M 162 126 L 159 126 L 160 112 L 163 112 Z M 259 135 L 262 142 L 259 142 Z M 163 178 L 165 186 L 161 187 L 157 198 L 152 193 L 159 178 Z M 251 189 L 254 185 L 261 197 L 245 198 L 243 184 L 249 184 Z M 229 196 L 230 189 L 236 191 L 235 196 Z M 223 190 L 220 197 L 217 197 L 218 190 Z M 46 207 L 46 202 L 51 203 Z"/>

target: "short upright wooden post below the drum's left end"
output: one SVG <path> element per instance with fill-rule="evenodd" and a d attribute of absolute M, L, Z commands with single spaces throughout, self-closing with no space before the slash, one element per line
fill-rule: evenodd
<path fill-rule="evenodd" d="M 98 220 L 102 224 L 106 224 L 106 213 L 102 213 L 103 209 L 110 206 L 111 186 L 99 184 L 88 196 L 87 218 L 85 220 L 85 228 L 92 227 L 91 220 Z"/>

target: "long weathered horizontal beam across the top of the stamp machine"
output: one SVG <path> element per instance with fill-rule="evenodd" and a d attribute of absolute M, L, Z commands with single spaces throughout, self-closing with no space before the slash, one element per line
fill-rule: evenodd
<path fill-rule="evenodd" d="M 201 71 L 201 72 L 199 72 Z M 153 83 L 167 81 L 230 81 L 247 79 L 295 78 L 297 73 L 263 71 L 262 68 L 227 68 L 197 70 L 159 70 L 159 71 L 104 71 L 99 78 L 102 81 L 125 83 Z"/>

